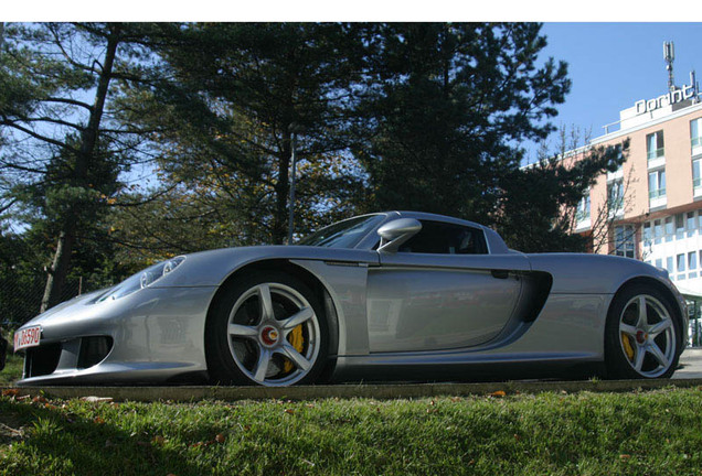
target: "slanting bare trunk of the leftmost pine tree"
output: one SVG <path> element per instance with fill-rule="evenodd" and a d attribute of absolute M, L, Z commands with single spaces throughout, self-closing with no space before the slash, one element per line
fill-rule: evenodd
<path fill-rule="evenodd" d="M 73 180 L 79 186 L 87 186 L 88 169 L 91 165 L 91 159 L 95 153 L 97 147 L 97 137 L 100 127 L 100 120 L 103 118 L 103 111 L 105 109 L 105 99 L 107 98 L 107 90 L 109 87 L 109 79 L 113 74 L 113 66 L 115 63 L 115 56 L 117 54 L 117 45 L 119 44 L 119 25 L 114 24 L 111 32 L 107 37 L 107 51 L 105 52 L 105 60 L 103 62 L 103 68 L 99 74 L 97 90 L 95 93 L 95 102 L 91 110 L 91 116 L 86 128 L 83 130 L 81 137 L 81 149 L 76 156 L 76 164 Z M 77 206 L 79 207 L 79 205 Z M 73 253 L 73 247 L 75 245 L 76 231 L 78 227 L 78 216 L 81 210 L 76 209 L 76 206 L 72 207 L 68 212 L 68 216 L 64 221 L 63 229 L 59 235 L 59 242 L 56 244 L 56 252 L 54 260 L 49 270 L 46 278 L 46 288 L 44 289 L 44 296 L 40 312 L 44 312 L 50 307 L 55 306 L 62 301 L 63 289 L 68 274 L 71 266 L 71 256 Z"/>

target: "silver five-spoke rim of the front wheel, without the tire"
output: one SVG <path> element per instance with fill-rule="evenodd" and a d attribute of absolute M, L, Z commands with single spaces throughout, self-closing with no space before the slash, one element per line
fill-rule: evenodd
<path fill-rule="evenodd" d="M 294 332 L 302 336 L 297 348 L 289 338 Z M 305 378 L 321 346 L 310 303 L 295 289 L 274 282 L 257 284 L 240 296 L 230 312 L 227 333 L 231 355 L 242 372 L 268 387 Z"/>

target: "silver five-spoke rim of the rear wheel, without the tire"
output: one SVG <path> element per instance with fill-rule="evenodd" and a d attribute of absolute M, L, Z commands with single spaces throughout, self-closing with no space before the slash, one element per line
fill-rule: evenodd
<path fill-rule="evenodd" d="M 629 300 L 619 316 L 619 344 L 639 375 L 663 375 L 676 358 L 676 326 L 666 306 L 648 294 Z"/>

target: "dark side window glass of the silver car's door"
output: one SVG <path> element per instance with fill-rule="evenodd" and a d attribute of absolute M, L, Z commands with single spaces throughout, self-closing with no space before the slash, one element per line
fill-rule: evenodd
<path fill-rule="evenodd" d="M 479 228 L 422 220 L 422 231 L 401 246 L 400 252 L 486 255 L 488 247 Z"/>

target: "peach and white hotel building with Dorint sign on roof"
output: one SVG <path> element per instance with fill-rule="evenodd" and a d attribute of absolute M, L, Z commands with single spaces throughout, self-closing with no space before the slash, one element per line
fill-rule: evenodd
<path fill-rule="evenodd" d="M 696 87 L 637 101 L 606 129 L 587 148 L 619 147 L 628 140 L 626 161 L 617 172 L 600 176 L 583 197 L 575 231 L 592 238 L 594 252 L 668 270 L 678 289 L 700 302 L 702 101 Z M 573 151 L 574 156 L 587 148 Z M 696 305 L 693 312 L 696 317 Z"/>

